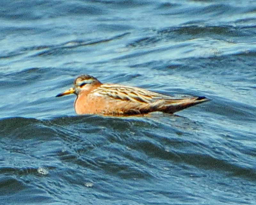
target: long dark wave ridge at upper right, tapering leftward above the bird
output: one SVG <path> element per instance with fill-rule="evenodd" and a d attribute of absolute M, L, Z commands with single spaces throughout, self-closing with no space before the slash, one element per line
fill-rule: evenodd
<path fill-rule="evenodd" d="M 130 42 L 127 47 L 134 48 L 154 48 L 159 43 L 169 41 L 187 41 L 195 38 L 212 38 L 225 41 L 244 41 L 248 36 L 253 36 L 256 30 L 254 27 L 246 28 L 243 26 L 230 26 L 230 25 L 189 25 L 184 24 L 179 27 L 162 28 L 156 32 L 135 39 Z M 253 40 L 252 40 L 253 41 Z M 184 46 L 184 44 L 182 44 Z M 186 44 L 185 44 L 186 45 Z M 180 47 L 181 45 L 179 45 Z M 187 45 L 186 45 L 187 46 Z M 170 48 L 169 48 L 170 49 Z"/>

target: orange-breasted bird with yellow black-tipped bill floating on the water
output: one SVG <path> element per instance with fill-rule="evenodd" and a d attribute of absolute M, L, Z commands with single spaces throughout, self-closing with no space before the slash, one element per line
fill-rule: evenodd
<path fill-rule="evenodd" d="M 102 84 L 91 75 L 77 77 L 74 87 L 56 97 L 72 93 L 77 96 L 74 104 L 77 114 L 127 116 L 155 111 L 172 114 L 209 100 L 205 97 L 174 98 L 137 87 Z"/>

